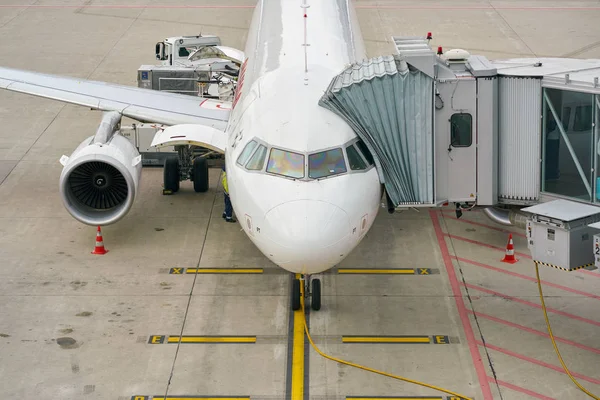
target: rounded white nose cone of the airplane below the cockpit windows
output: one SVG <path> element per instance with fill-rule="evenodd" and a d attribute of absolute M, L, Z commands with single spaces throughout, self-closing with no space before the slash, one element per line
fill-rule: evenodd
<path fill-rule="evenodd" d="M 276 248 L 269 258 L 298 273 L 318 273 L 343 258 L 350 234 L 341 208 L 316 200 L 290 201 L 265 216 L 268 237 Z"/>

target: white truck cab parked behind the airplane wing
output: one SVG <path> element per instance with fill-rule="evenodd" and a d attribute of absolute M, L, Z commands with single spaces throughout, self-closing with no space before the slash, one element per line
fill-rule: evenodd
<path fill-rule="evenodd" d="M 213 35 L 170 37 L 156 43 L 156 59 L 161 61 L 161 65 L 181 65 L 196 50 L 220 45 L 221 39 Z"/>

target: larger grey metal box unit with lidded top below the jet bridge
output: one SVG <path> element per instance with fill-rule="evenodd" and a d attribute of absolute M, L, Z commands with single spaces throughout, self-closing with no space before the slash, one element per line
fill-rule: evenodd
<path fill-rule="evenodd" d="M 574 271 L 594 265 L 594 235 L 600 229 L 600 207 L 554 200 L 523 208 L 527 221 L 527 247 L 539 264 Z"/>

